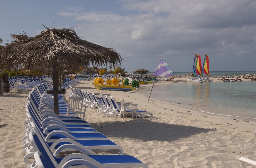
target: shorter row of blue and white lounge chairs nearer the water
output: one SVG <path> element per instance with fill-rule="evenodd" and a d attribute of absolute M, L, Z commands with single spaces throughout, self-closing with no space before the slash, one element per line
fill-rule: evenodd
<path fill-rule="evenodd" d="M 87 92 L 83 91 L 81 89 L 72 88 L 70 86 L 69 91 L 70 96 L 76 96 L 83 99 L 83 104 L 86 107 L 89 108 L 97 108 L 97 111 L 100 114 L 103 114 L 104 116 L 108 117 L 123 117 L 124 115 L 135 115 L 135 118 L 137 120 L 137 117 L 141 118 L 152 118 L 153 114 L 140 110 L 137 108 L 137 104 L 134 104 L 132 102 L 125 102 L 122 97 L 120 97 L 120 102 L 117 102 L 116 99 L 113 96 L 107 96 L 103 94 L 99 94 L 100 97 L 97 97 L 95 93 L 93 92 Z"/>

